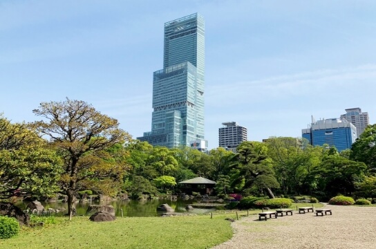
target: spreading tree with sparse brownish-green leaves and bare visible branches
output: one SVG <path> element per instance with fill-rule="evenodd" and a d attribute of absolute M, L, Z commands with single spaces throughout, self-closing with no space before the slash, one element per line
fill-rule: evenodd
<path fill-rule="evenodd" d="M 108 179 L 126 170 L 124 164 L 111 160 L 106 150 L 131 137 L 119 128 L 118 120 L 80 100 L 42 102 L 33 113 L 42 118 L 35 122 L 35 127 L 42 136 L 50 138 L 50 144 L 64 160 L 59 185 L 68 196 L 71 220 L 75 212 L 73 197 L 82 190 L 84 181 Z"/>

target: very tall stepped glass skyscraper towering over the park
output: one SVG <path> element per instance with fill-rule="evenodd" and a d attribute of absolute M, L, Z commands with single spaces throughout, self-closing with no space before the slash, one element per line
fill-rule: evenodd
<path fill-rule="evenodd" d="M 164 24 L 163 69 L 153 74 L 151 145 L 205 150 L 205 22 L 193 14 Z"/>

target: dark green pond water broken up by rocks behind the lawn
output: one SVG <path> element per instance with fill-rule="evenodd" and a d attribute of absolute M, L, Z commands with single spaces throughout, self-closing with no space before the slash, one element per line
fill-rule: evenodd
<path fill-rule="evenodd" d="M 144 216 L 159 216 L 163 212 L 157 211 L 157 207 L 167 203 L 175 210 L 175 212 L 189 212 L 192 214 L 203 214 L 209 212 L 209 209 L 194 208 L 194 210 L 187 211 L 185 207 L 189 204 L 197 203 L 195 200 L 182 200 L 178 199 L 176 201 L 171 201 L 169 199 L 156 199 L 148 201 L 106 201 L 106 202 L 86 202 L 86 203 L 76 203 L 77 215 L 84 215 L 89 205 L 113 205 L 115 208 L 115 215 L 121 216 L 121 210 L 123 210 L 123 215 L 125 217 L 144 217 Z M 44 206 L 45 210 L 48 208 L 53 208 L 54 210 L 65 208 L 68 210 L 68 204 L 62 202 L 43 202 L 41 204 Z M 16 205 L 22 210 L 26 209 L 28 202 L 16 203 Z M 64 215 L 66 211 L 59 212 L 58 214 Z"/>

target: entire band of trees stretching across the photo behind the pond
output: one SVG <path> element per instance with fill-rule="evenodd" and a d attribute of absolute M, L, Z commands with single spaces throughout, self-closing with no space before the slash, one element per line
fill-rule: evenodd
<path fill-rule="evenodd" d="M 236 153 L 218 147 L 205 154 L 133 140 L 118 120 L 84 101 L 42 102 L 33 113 L 41 120 L 12 123 L 0 116 L 0 199 L 64 194 L 70 219 L 79 191 L 138 199 L 178 192 L 178 182 L 197 176 L 216 181 L 223 197 L 376 197 L 376 124 L 340 153 L 303 138 L 271 137 L 243 142 Z"/>

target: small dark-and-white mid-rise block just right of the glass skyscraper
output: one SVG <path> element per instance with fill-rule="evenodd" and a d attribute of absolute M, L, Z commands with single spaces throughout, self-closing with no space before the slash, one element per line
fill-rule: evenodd
<path fill-rule="evenodd" d="M 219 147 L 236 151 L 241 142 L 247 141 L 247 128 L 241 127 L 237 122 L 223 122 L 224 127 L 218 129 Z"/>

